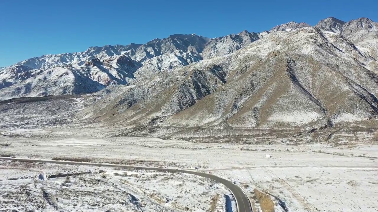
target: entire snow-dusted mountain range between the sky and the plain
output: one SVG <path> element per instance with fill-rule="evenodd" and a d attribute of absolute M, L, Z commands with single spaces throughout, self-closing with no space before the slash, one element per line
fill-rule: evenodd
<path fill-rule="evenodd" d="M 98 92 L 77 114 L 126 126 L 319 127 L 378 114 L 378 23 L 329 17 L 218 38 L 43 55 L 0 69 L 0 100 Z"/>

